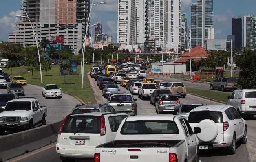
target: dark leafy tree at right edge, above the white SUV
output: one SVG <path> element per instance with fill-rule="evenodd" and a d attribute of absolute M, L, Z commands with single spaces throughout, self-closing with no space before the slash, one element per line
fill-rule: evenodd
<path fill-rule="evenodd" d="M 245 50 L 237 56 L 236 65 L 240 68 L 237 79 L 238 87 L 256 89 L 256 50 Z"/>

